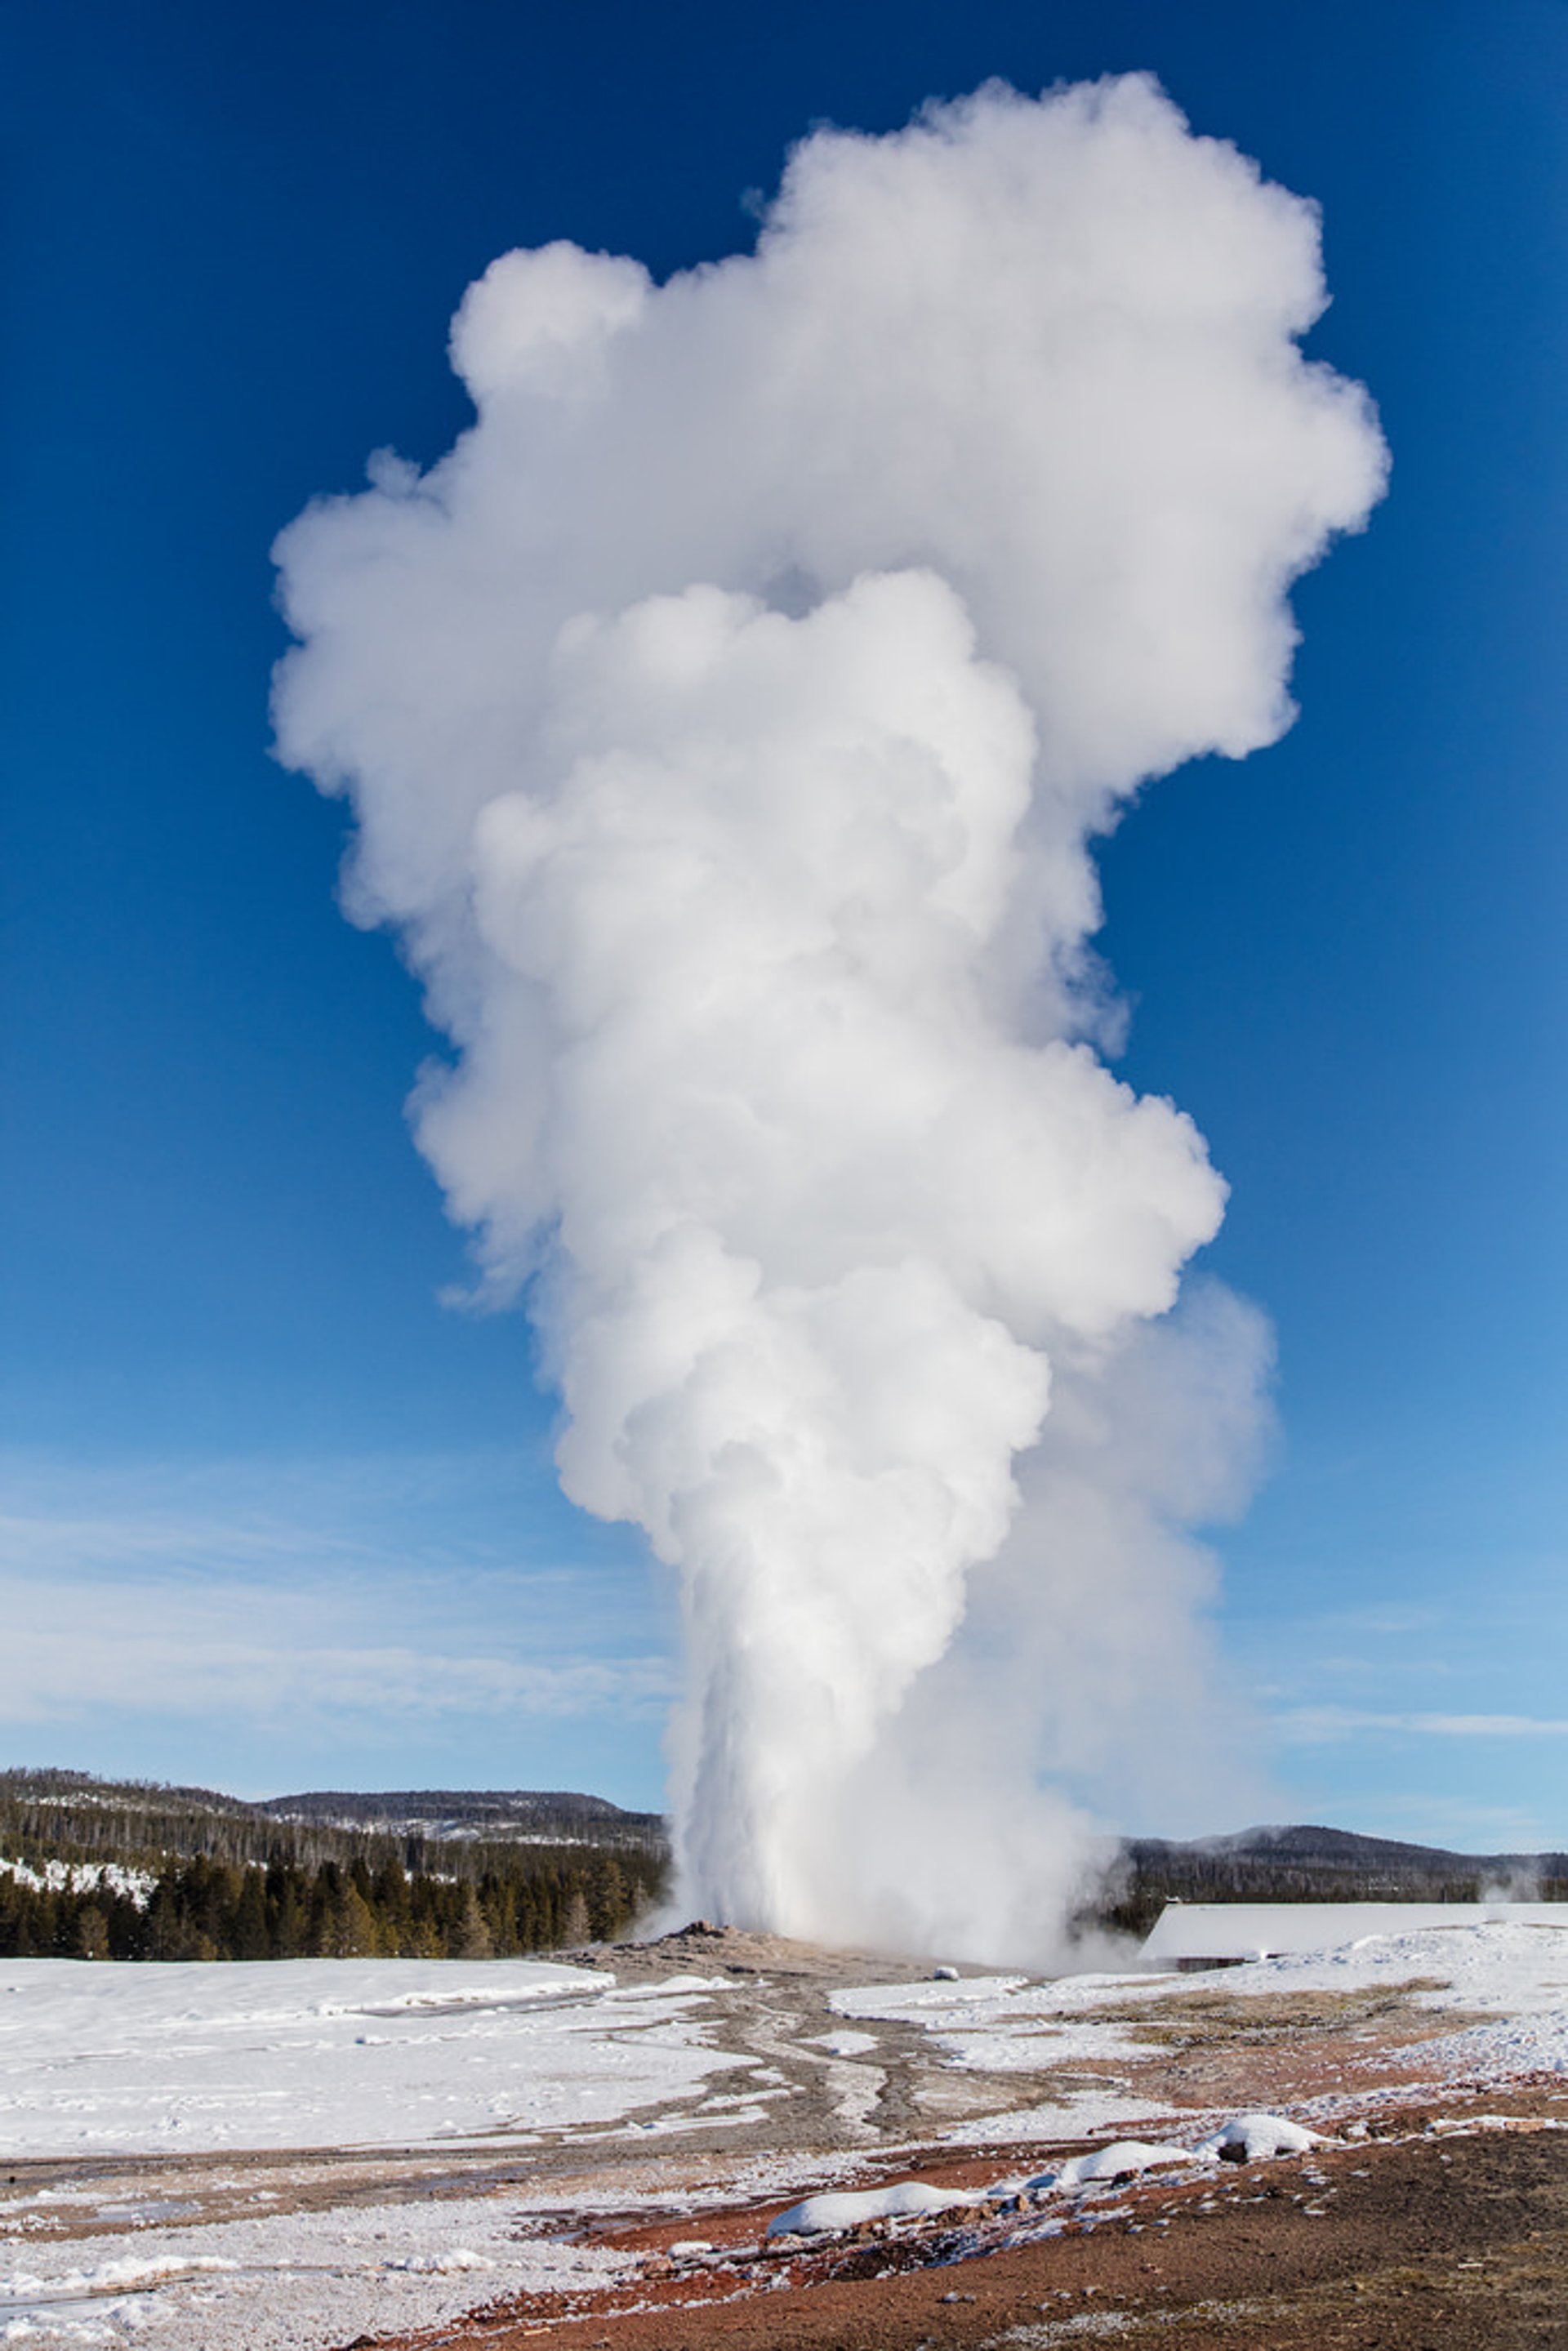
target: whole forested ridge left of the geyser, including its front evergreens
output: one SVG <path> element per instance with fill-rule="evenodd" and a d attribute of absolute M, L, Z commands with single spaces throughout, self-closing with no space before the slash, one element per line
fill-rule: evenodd
<path fill-rule="evenodd" d="M 520 1801 L 538 1817 L 557 1799 Z M 0 1773 L 0 1956 L 510 1958 L 623 1935 L 663 1893 L 663 1834 L 562 1803 L 564 1838 L 388 1834 L 207 1789 Z"/>

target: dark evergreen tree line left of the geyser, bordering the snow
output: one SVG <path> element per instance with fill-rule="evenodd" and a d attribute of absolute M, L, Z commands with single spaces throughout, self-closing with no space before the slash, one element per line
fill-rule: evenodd
<path fill-rule="evenodd" d="M 146 1897 L 115 1874 L 31 1886 L 0 1871 L 0 1958 L 515 1958 L 611 1942 L 663 1893 L 663 1862 L 524 1848 L 475 1876 L 292 1857 L 167 1860 Z"/>

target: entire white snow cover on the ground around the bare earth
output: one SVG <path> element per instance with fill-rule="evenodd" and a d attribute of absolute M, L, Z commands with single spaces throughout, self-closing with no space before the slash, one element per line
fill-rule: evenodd
<path fill-rule="evenodd" d="M 1361 1935 L 1232 1968 L 1208 1987 L 1234 2001 L 1413 1980 L 1441 1987 L 1410 1996 L 1432 2012 L 1432 2041 L 1403 2050 L 1422 2078 L 1568 2074 L 1568 1930 L 1521 1923 L 1519 1911 L 1507 1923 Z M 1114 2081 L 1081 2095 L 1067 2083 L 1039 2102 L 1039 2076 L 1058 2067 L 1072 2076 L 1086 2062 L 1135 2064 L 1150 2005 L 1194 1989 L 1190 1975 L 1147 1972 L 839 1987 L 830 2005 L 844 2027 L 823 2031 L 818 2003 L 785 2043 L 769 2005 L 783 1987 L 696 1972 L 616 1987 L 604 1972 L 524 1961 L 0 1963 L 0 2151 L 21 2165 L 0 2186 L 0 2344 L 322 2351 L 498 2295 L 602 2283 L 632 2257 L 571 2243 L 569 2215 L 595 2196 L 618 2208 L 661 2201 L 646 2179 L 614 2172 L 614 2151 L 663 2161 L 682 2132 L 738 2118 L 755 2130 L 790 2099 L 804 2106 L 799 2071 L 785 2081 L 769 2057 L 825 2071 L 832 2097 L 839 2071 L 863 2071 L 872 2088 L 856 2111 L 867 2111 L 898 2050 L 914 2050 L 969 2099 L 940 2130 L 957 2144 L 1112 2137 L 1119 2123 L 1157 2121 L 1152 2149 L 1131 2142 L 1138 2161 L 1173 2161 L 1182 2146 L 1204 2161 L 1197 2114 L 1173 2128 Z M 1455 2010 L 1483 2022 L 1460 2024 Z M 759 2156 L 773 2128 L 752 2135 L 726 2184 L 710 2163 L 691 2205 L 741 2184 L 799 2193 L 835 2177 L 820 2154 Z M 548 2172 L 548 2149 L 574 2132 L 574 2146 L 602 2139 L 597 2189 Z M 771 2144 L 783 2149 L 783 2128 Z M 331 2201 L 324 2172 L 324 2186 L 310 2186 L 320 2158 L 306 2156 L 296 2172 L 310 2193 L 280 2196 L 292 2158 L 266 2151 L 327 2146 L 364 2149 L 378 2186 L 348 2179 Z M 393 2149 L 425 2151 L 407 2186 Z M 510 2151 L 510 2172 L 475 2168 L 475 2149 Z M 216 2151 L 205 2208 L 181 2191 L 181 2161 L 200 2151 Z M 127 2163 L 120 2186 L 106 2186 L 115 2156 L 141 2158 L 141 2203 L 127 2203 Z M 28 2170 L 28 2158 L 49 2161 Z M 1126 2144 L 1103 2161 L 1138 2168 Z M 531 2165 L 545 2165 L 534 2189 Z M 1058 2196 L 1070 2172 L 1084 2184 L 1095 2165 L 1063 2163 Z"/>

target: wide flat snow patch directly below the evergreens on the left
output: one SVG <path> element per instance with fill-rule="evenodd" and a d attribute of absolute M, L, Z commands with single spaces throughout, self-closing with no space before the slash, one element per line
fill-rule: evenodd
<path fill-rule="evenodd" d="M 682 1977 L 545 1961 L 0 1961 L 0 2156 L 416 2146 L 616 2123 L 715 2067 Z M 703 2001 L 703 2005 L 708 2005 Z"/>

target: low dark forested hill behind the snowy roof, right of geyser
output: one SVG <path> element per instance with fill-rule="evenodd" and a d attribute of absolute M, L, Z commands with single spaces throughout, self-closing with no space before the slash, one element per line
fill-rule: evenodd
<path fill-rule="evenodd" d="M 1448 1853 L 1349 1829 L 1128 1838 L 1095 1916 L 1147 1933 L 1166 1902 L 1479 1902 L 1495 1888 L 1568 1900 L 1568 1853 Z"/>

